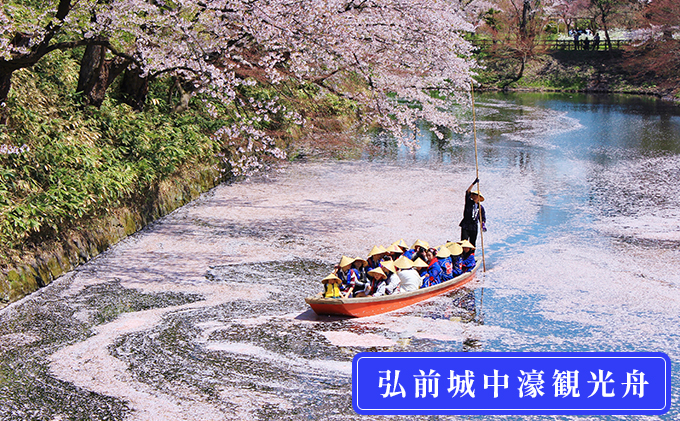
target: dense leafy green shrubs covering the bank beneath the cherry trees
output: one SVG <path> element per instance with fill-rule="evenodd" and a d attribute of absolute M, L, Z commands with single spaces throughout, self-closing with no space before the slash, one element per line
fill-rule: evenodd
<path fill-rule="evenodd" d="M 184 166 L 216 162 L 219 145 L 211 134 L 225 121 L 196 107 L 179 116 L 158 112 L 169 106 L 155 91 L 147 112 L 111 99 L 100 109 L 83 109 L 74 94 L 77 77 L 77 62 L 59 52 L 15 72 L 0 145 L 28 150 L 0 154 L 5 249 L 42 241 L 143 197 Z"/>

